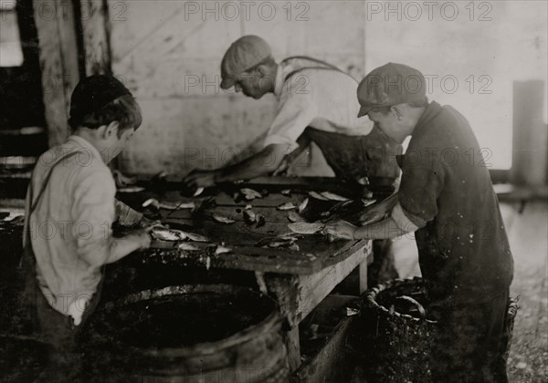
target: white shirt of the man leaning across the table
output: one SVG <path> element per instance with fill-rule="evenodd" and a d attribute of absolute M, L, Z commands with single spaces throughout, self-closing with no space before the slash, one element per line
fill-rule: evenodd
<path fill-rule="evenodd" d="M 357 81 L 337 70 L 313 67 L 319 65 L 300 58 L 279 64 L 274 88 L 279 110 L 265 147 L 287 144 L 289 150 L 295 150 L 299 146 L 297 139 L 309 126 L 347 136 L 364 136 L 373 129 L 370 119 L 357 117 L 360 110 Z M 300 68 L 303 69 L 284 81 Z"/>

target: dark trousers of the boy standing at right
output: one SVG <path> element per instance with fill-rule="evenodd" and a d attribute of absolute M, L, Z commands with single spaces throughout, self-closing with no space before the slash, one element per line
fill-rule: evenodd
<path fill-rule="evenodd" d="M 431 344 L 434 382 L 508 382 L 509 293 L 490 302 L 452 308 L 431 305 L 438 331 Z"/>

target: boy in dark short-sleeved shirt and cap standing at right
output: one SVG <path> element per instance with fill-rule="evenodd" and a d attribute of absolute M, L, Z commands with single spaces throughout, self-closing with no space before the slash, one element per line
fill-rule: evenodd
<path fill-rule="evenodd" d="M 433 381 L 505 382 L 504 328 L 513 260 L 478 140 L 457 110 L 428 102 L 416 69 L 389 63 L 358 87 L 362 108 L 397 143 L 411 136 L 387 219 L 325 233 L 379 239 L 415 232 L 432 341 Z M 473 153 L 474 156 L 470 156 Z"/>

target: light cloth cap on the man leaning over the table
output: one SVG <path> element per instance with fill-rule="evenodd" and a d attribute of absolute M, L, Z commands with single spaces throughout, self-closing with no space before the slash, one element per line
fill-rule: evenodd
<path fill-rule="evenodd" d="M 240 74 L 271 55 L 269 43 L 261 37 L 248 35 L 238 38 L 221 61 L 221 88 L 233 87 Z"/>

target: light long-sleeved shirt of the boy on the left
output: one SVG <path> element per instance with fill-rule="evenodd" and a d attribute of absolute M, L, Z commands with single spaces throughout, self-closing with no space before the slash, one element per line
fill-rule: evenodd
<path fill-rule="evenodd" d="M 35 200 L 53 161 L 72 150 L 81 152 L 54 167 L 27 223 L 38 285 L 49 304 L 78 325 L 110 256 L 116 186 L 99 151 L 71 136 L 38 159 L 31 180 Z"/>

